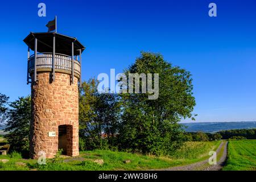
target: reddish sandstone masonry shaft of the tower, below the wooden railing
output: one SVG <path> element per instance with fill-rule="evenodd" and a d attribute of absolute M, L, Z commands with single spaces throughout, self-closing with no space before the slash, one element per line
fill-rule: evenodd
<path fill-rule="evenodd" d="M 79 91 L 77 81 L 71 84 L 71 76 L 55 73 L 50 82 L 50 73 L 38 73 L 38 81 L 31 84 L 32 120 L 30 156 L 39 158 L 38 152 L 46 152 L 53 158 L 58 150 L 58 126 L 67 125 L 67 155 L 79 155 Z M 55 131 L 56 137 L 48 137 Z"/>

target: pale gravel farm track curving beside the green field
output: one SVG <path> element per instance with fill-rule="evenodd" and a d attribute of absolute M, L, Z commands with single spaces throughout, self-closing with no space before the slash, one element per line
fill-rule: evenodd
<path fill-rule="evenodd" d="M 223 146 L 225 145 L 225 146 Z M 222 156 L 220 159 L 218 159 L 216 165 L 210 165 L 208 164 L 208 159 L 203 160 L 201 162 L 188 164 L 185 166 L 178 166 L 178 167 L 171 167 L 171 168 L 165 168 L 165 169 L 156 169 L 160 171 L 219 171 L 224 166 L 227 156 L 227 145 L 228 142 L 221 142 L 220 146 L 218 147 L 216 153 L 217 155 L 221 152 L 222 147 L 224 147 Z"/>

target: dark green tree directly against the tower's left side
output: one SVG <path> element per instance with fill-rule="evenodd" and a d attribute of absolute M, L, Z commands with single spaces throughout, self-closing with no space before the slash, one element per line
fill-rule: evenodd
<path fill-rule="evenodd" d="M 31 97 L 19 97 L 19 100 L 10 102 L 7 110 L 5 135 L 11 150 L 27 154 L 29 150 L 29 133 L 31 119 Z"/>

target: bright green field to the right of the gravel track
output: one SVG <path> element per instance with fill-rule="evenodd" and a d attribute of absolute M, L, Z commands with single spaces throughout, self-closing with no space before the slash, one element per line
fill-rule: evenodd
<path fill-rule="evenodd" d="M 229 140 L 226 171 L 256 170 L 256 140 Z"/>

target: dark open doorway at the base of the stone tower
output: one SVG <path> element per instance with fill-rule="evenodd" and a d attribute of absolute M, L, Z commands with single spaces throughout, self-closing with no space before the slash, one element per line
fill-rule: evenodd
<path fill-rule="evenodd" d="M 63 155 L 72 155 L 72 125 L 59 126 L 58 149 L 63 150 Z"/>

